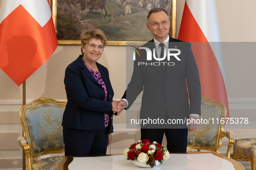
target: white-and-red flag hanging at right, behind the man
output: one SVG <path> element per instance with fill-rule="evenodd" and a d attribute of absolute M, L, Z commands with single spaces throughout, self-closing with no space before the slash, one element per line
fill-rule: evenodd
<path fill-rule="evenodd" d="M 192 44 L 201 95 L 223 103 L 229 117 L 215 0 L 186 0 L 178 39 Z"/>

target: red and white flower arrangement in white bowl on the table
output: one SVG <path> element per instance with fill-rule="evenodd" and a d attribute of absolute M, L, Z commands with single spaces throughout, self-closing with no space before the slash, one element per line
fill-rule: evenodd
<path fill-rule="evenodd" d="M 162 164 L 162 161 L 167 161 L 170 157 L 169 151 L 165 151 L 165 145 L 162 146 L 155 141 L 150 143 L 149 139 L 134 143 L 130 148 L 124 150 L 123 155 L 127 160 L 137 160 L 150 167 L 156 166 L 156 161 Z"/>

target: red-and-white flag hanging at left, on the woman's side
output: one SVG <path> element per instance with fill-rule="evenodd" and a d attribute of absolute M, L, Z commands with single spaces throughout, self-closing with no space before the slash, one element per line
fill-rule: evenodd
<path fill-rule="evenodd" d="M 0 68 L 21 85 L 56 50 L 48 0 L 2 0 Z"/>

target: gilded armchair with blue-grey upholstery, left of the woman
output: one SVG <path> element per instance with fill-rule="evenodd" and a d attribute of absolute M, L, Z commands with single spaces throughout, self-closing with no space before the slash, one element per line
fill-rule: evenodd
<path fill-rule="evenodd" d="M 25 151 L 28 170 L 57 170 L 64 156 L 47 157 L 46 154 L 64 153 L 62 116 L 66 102 L 38 98 L 21 107 L 19 116 L 23 137 L 19 146 Z"/>

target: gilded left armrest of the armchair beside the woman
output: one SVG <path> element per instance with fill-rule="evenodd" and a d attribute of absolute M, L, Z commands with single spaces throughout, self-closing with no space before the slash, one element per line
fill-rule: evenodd
<path fill-rule="evenodd" d="M 19 136 L 17 139 L 19 143 L 19 147 L 22 148 L 25 151 L 26 157 L 27 157 L 27 164 L 28 164 L 28 170 L 34 170 L 32 166 L 32 161 L 34 160 L 32 155 L 30 154 L 29 150 L 29 144 L 22 136 Z"/>

